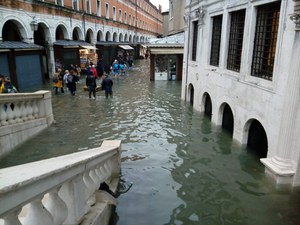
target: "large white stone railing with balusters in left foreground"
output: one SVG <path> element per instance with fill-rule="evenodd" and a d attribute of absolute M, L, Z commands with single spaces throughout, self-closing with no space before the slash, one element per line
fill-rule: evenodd
<path fill-rule="evenodd" d="M 108 224 L 115 199 L 98 188 L 106 182 L 116 189 L 120 146 L 104 141 L 99 148 L 1 169 L 0 224 Z"/>

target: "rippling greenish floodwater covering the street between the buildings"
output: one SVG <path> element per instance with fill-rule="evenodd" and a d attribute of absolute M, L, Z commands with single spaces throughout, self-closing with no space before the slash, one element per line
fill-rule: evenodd
<path fill-rule="evenodd" d="M 181 82 L 149 81 L 149 62 L 114 78 L 114 97 L 53 96 L 56 123 L 1 167 L 122 140 L 112 225 L 297 225 L 300 191 L 277 191 L 258 158 L 180 100 Z M 49 86 L 44 88 L 51 89 Z"/>

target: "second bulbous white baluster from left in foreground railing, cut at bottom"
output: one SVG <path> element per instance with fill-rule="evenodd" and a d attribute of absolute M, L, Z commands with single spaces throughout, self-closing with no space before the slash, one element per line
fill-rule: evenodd
<path fill-rule="evenodd" d="M 38 197 L 29 204 L 24 225 L 54 225 L 51 213 L 43 206 L 41 200 L 42 197 Z"/>

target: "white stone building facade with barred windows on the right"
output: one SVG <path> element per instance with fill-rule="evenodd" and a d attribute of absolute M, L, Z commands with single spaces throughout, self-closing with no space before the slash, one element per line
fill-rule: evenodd
<path fill-rule="evenodd" d="M 300 1 L 187 0 L 182 99 L 300 185 Z"/>

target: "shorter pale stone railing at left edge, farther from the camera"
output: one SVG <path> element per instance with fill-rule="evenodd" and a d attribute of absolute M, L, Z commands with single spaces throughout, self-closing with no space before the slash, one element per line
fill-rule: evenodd
<path fill-rule="evenodd" d="M 53 122 L 51 92 L 0 94 L 0 156 Z"/>

